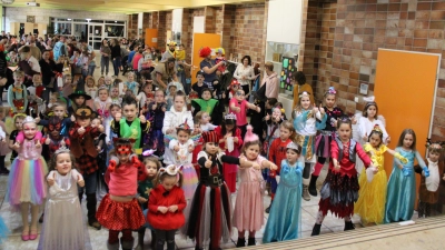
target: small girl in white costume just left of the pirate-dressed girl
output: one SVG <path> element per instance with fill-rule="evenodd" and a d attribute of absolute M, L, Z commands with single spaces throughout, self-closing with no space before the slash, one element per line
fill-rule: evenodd
<path fill-rule="evenodd" d="M 195 142 L 190 139 L 190 133 L 191 128 L 188 127 L 186 120 L 184 124 L 176 128 L 177 139 L 170 140 L 168 146 L 170 150 L 166 151 L 164 158 L 165 164 L 182 166 L 182 190 L 187 200 L 192 198 L 198 183 L 198 177 L 191 166 L 191 156 L 195 149 Z"/>

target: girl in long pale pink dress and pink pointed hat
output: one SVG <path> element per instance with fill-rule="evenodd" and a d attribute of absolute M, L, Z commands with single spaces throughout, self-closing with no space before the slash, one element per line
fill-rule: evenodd
<path fill-rule="evenodd" d="M 249 232 L 248 246 L 255 246 L 255 233 L 264 224 L 263 196 L 266 183 L 261 176 L 261 169 L 278 169 L 275 163 L 259 154 L 261 142 L 251 130 L 251 126 L 248 126 L 240 158 L 257 163 L 259 168 L 239 169 L 240 183 L 234 209 L 234 227 L 238 230 L 237 247 L 246 247 L 246 231 Z"/>

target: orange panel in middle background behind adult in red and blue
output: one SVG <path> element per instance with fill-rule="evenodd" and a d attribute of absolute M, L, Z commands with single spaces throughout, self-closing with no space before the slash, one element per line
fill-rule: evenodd
<path fill-rule="evenodd" d="M 194 33 L 191 64 L 195 67 L 191 71 L 191 83 L 196 82 L 196 72 L 200 70 L 199 63 L 202 61 L 202 58 L 199 57 L 199 50 L 204 47 L 209 47 L 210 49 L 221 47 L 221 36 L 216 33 Z"/>

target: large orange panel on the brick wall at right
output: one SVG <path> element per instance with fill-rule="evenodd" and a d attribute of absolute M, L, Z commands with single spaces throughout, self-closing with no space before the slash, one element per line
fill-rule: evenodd
<path fill-rule="evenodd" d="M 374 94 L 379 113 L 386 119 L 390 149 L 396 148 L 402 131 L 411 128 L 416 132 L 416 149 L 425 156 L 426 138 L 432 132 L 439 59 L 441 54 L 434 53 L 378 50 Z M 385 170 L 389 178 L 392 157 L 386 157 Z M 419 177 L 416 176 L 418 188 Z"/>

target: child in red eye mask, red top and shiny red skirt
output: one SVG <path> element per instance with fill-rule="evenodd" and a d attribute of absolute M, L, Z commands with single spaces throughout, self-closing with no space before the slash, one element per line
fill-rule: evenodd
<path fill-rule="evenodd" d="M 147 169 L 134 154 L 135 139 L 115 139 L 115 151 L 105 176 L 109 193 L 103 197 L 98 208 L 97 218 L 109 229 L 107 248 L 119 249 L 119 232 L 122 232 L 120 243 L 123 250 L 131 250 L 135 239 L 132 230 L 138 230 L 146 220 L 144 218 L 137 193 L 137 181 L 147 178 Z"/>

